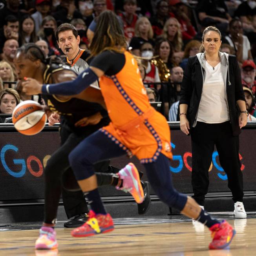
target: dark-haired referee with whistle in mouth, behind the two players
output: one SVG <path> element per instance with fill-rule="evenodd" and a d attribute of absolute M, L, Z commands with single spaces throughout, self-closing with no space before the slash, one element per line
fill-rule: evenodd
<path fill-rule="evenodd" d="M 90 59 L 90 52 L 84 49 L 79 48 L 80 37 L 78 35 L 77 29 L 69 24 L 64 23 L 61 24 L 56 31 L 56 38 L 59 45 L 59 48 L 66 55 L 66 62 L 71 66 L 71 69 L 75 71 L 77 74 L 82 73 L 88 66 L 92 59 Z M 90 85 L 93 88 L 99 88 L 98 82 L 93 82 Z M 86 122 L 86 117 L 84 122 Z M 53 114 L 49 119 L 49 123 L 51 124 L 59 122 L 59 117 L 57 114 Z M 83 119 L 79 121 L 79 125 L 83 125 Z M 66 130 L 65 118 L 61 118 L 62 123 L 62 133 L 68 132 Z M 65 136 L 66 137 L 66 136 Z M 109 166 L 109 171 L 112 173 L 116 173 L 119 169 Z M 140 173 L 142 176 L 143 173 Z M 150 184 L 148 182 L 141 181 L 143 190 L 144 190 L 144 201 L 141 204 L 138 204 L 138 213 L 144 214 L 149 209 L 151 200 L 150 200 Z M 63 190 L 64 191 L 64 190 Z M 83 224 L 87 219 L 84 218 L 84 214 L 87 212 L 87 204 L 84 196 L 80 191 L 78 192 L 68 192 L 67 190 L 62 193 L 62 199 L 64 208 L 68 218 L 73 219 L 64 223 L 64 227 L 77 227 Z"/>

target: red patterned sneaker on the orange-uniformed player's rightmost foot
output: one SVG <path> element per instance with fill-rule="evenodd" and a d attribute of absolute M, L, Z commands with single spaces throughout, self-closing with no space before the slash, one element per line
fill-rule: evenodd
<path fill-rule="evenodd" d="M 209 249 L 223 249 L 227 247 L 236 234 L 236 230 L 225 220 L 210 227 L 210 231 L 212 232 L 212 242 L 209 244 Z"/>

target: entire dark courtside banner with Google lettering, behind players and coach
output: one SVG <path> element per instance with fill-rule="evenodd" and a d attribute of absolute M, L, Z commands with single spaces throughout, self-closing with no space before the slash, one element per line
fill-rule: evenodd
<path fill-rule="evenodd" d="M 44 167 L 55 150 L 59 148 L 58 128 L 26 136 L 11 131 L 1 131 L 0 136 L 0 201 L 44 199 Z M 171 130 L 173 160 L 170 174 L 174 187 L 183 193 L 192 193 L 190 137 L 180 130 Z M 240 159 L 245 191 L 256 190 L 256 136 L 255 129 L 244 129 L 240 135 Z M 86 154 L 86 152 L 84 152 Z M 231 160 L 232 161 L 232 160 Z M 143 165 L 133 157 L 114 158 L 111 165 L 123 168 L 133 162 L 144 172 Z M 161 170 L 159 170 L 161 171 Z M 228 192 L 227 176 L 219 164 L 218 152 L 212 154 L 209 169 L 209 192 Z M 147 181 L 146 173 L 143 180 Z M 123 192 L 110 186 L 100 188 L 101 196 L 124 196 Z M 154 191 L 152 191 L 154 194 Z"/>

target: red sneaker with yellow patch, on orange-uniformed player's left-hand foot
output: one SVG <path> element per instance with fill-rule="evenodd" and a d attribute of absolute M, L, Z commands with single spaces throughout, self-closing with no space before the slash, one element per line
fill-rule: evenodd
<path fill-rule="evenodd" d="M 89 218 L 81 227 L 71 232 L 72 236 L 94 236 L 96 234 L 110 232 L 114 229 L 114 223 L 110 214 L 95 214 L 90 210 Z"/>

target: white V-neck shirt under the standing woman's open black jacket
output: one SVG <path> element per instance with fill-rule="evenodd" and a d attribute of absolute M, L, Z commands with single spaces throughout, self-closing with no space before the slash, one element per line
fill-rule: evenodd
<path fill-rule="evenodd" d="M 229 120 L 229 111 L 226 101 L 225 84 L 221 74 L 221 64 L 214 68 L 205 62 L 205 82 L 197 121 L 208 124 L 223 123 Z"/>

